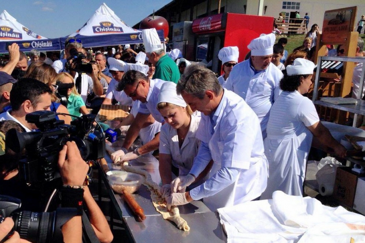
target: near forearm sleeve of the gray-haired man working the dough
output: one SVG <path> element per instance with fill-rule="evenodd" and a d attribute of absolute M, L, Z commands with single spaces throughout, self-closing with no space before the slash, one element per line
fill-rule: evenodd
<path fill-rule="evenodd" d="M 194 200 L 212 196 L 229 185 L 233 184 L 241 169 L 233 167 L 222 167 L 211 178 L 200 186 L 192 189 L 189 193 Z"/>

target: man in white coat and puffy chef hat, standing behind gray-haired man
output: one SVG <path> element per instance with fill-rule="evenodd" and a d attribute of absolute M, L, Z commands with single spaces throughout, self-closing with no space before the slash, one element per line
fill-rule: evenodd
<path fill-rule="evenodd" d="M 279 82 L 283 77 L 271 59 L 275 34 L 261 34 L 247 46 L 251 50 L 248 60 L 234 66 L 225 88 L 241 96 L 259 117 L 263 138 L 270 108 L 280 95 Z"/>

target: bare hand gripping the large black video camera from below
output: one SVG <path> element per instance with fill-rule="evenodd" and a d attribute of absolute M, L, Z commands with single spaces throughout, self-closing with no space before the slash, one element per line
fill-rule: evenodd
<path fill-rule="evenodd" d="M 89 165 L 81 157 L 79 148 L 74 141 L 67 142 L 59 152 L 58 167 L 63 185 L 72 186 L 83 185 L 89 170 Z"/>

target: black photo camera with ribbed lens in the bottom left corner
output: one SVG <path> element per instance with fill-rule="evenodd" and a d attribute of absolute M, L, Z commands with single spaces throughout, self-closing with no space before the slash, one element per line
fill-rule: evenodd
<path fill-rule="evenodd" d="M 19 211 L 21 202 L 11 196 L 0 195 L 0 223 L 6 217 L 14 220 L 13 230 L 0 242 L 5 242 L 17 231 L 21 238 L 31 242 L 63 242 L 61 227 L 77 215 L 77 209 L 58 208 L 55 212 L 34 213 Z"/>

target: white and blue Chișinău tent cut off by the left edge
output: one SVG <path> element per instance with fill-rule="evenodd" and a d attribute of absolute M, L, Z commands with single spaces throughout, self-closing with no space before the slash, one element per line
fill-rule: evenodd
<path fill-rule="evenodd" d="M 59 39 L 48 39 L 34 33 L 20 24 L 6 10 L 0 15 L 0 52 L 7 53 L 7 43 L 18 43 L 20 50 L 28 52 L 31 49 L 39 51 L 60 50 Z M 8 43 L 9 44 L 9 43 Z"/>

